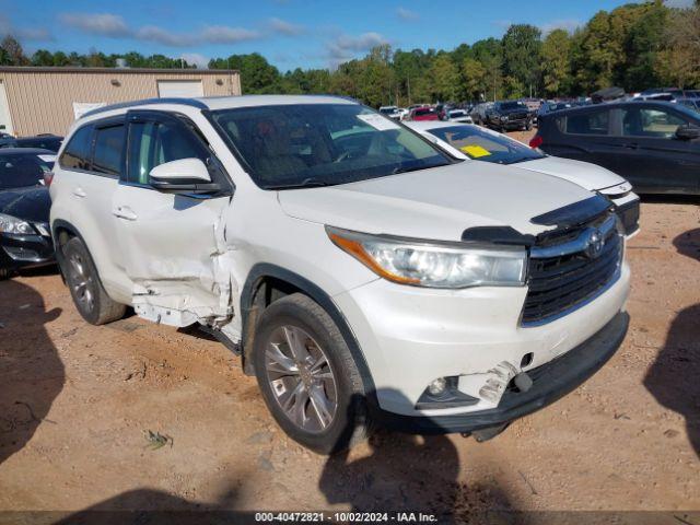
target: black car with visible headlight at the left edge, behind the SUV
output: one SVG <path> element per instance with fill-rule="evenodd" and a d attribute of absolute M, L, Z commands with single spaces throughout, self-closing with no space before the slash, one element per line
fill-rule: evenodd
<path fill-rule="evenodd" d="M 52 166 L 52 151 L 0 149 L 0 278 L 54 262 L 51 200 L 43 185 Z"/>

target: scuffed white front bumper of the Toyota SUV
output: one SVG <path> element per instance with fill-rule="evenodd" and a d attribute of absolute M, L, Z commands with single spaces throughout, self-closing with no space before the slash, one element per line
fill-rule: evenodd
<path fill-rule="evenodd" d="M 362 350 L 380 408 L 435 418 L 497 408 L 500 398 L 482 390 L 503 365 L 529 372 L 582 345 L 625 310 L 629 280 L 623 264 L 594 301 L 533 327 L 520 320 L 526 287 L 435 290 L 377 279 L 332 299 Z M 477 402 L 418 408 L 440 377 L 457 377 L 458 390 Z"/>

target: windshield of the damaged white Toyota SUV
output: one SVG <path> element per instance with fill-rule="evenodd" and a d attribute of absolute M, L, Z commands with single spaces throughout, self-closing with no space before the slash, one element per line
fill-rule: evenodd
<path fill-rule="evenodd" d="M 358 104 L 289 104 L 213 112 L 256 184 L 328 186 L 450 164 L 394 120 Z"/>

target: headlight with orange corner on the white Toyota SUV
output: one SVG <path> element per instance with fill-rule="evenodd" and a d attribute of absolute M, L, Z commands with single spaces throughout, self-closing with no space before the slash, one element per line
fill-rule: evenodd
<path fill-rule="evenodd" d="M 330 240 L 377 276 L 427 288 L 520 287 L 525 282 L 524 248 L 468 247 L 369 235 L 326 226 Z"/>

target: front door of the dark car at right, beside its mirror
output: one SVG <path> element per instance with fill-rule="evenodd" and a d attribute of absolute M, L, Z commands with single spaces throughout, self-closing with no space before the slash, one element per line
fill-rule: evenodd
<path fill-rule="evenodd" d="M 615 140 L 623 152 L 618 160 L 620 175 L 639 191 L 698 191 L 697 145 L 676 138 L 678 126 L 689 119 L 670 107 L 642 103 L 625 105 L 619 112 L 619 137 Z"/>

